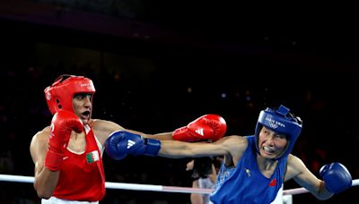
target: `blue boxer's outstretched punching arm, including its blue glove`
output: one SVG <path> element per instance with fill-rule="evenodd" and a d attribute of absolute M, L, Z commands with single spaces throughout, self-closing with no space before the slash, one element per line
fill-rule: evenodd
<path fill-rule="evenodd" d="M 108 155 L 117 160 L 130 155 L 161 157 L 208 157 L 232 155 L 239 147 L 241 140 L 236 136 L 224 137 L 213 143 L 185 142 L 177 140 L 153 140 L 132 132 L 114 132 L 105 142 Z"/>

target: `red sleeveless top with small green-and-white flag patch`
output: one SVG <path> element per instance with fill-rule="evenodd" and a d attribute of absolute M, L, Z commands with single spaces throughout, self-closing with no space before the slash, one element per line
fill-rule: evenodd
<path fill-rule="evenodd" d="M 85 126 L 86 149 L 76 154 L 66 149 L 53 196 L 64 200 L 98 201 L 105 195 L 101 150 L 89 126 Z"/>

